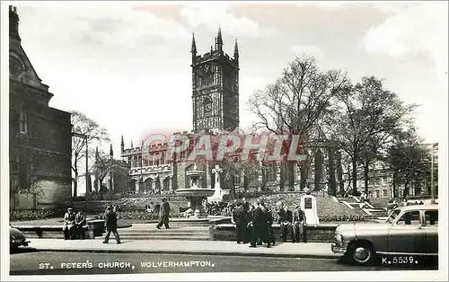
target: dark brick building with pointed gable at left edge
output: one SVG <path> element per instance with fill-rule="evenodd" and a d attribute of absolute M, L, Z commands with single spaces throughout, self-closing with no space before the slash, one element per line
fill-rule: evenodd
<path fill-rule="evenodd" d="M 53 109 L 25 54 L 19 15 L 9 6 L 10 208 L 66 206 L 72 197 L 70 113 Z"/>

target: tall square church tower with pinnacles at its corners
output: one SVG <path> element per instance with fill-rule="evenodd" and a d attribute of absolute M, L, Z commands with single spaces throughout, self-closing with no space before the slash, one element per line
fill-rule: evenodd
<path fill-rule="evenodd" d="M 193 130 L 233 130 L 239 127 L 239 50 L 235 41 L 233 57 L 223 51 L 221 28 L 210 52 L 197 56 L 192 38 Z"/>

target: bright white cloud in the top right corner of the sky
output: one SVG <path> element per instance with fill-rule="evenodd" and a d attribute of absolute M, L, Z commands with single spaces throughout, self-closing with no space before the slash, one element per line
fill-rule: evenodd
<path fill-rule="evenodd" d="M 419 4 L 388 18 L 370 29 L 363 39 L 368 52 L 392 57 L 427 52 L 437 72 L 447 71 L 447 3 Z"/>

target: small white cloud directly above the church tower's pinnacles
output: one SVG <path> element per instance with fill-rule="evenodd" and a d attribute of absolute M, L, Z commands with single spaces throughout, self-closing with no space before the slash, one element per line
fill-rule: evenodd
<path fill-rule="evenodd" d="M 180 10 L 180 16 L 185 18 L 189 25 L 198 28 L 205 25 L 209 31 L 216 32 L 219 25 L 233 37 L 260 37 L 272 34 L 269 29 L 262 30 L 257 22 L 247 17 L 237 17 L 229 13 L 231 5 L 228 3 L 186 4 Z"/>

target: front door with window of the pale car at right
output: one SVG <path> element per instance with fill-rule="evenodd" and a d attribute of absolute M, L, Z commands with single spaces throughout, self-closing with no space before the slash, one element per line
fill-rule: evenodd
<path fill-rule="evenodd" d="M 404 211 L 392 224 L 388 233 L 390 253 L 419 254 L 425 252 L 425 230 L 419 210 Z"/>

